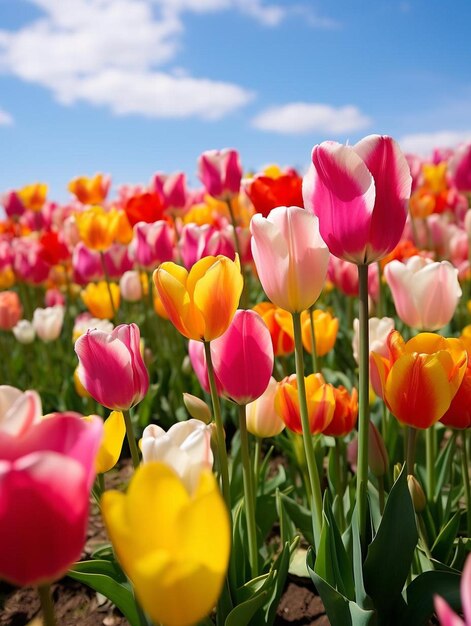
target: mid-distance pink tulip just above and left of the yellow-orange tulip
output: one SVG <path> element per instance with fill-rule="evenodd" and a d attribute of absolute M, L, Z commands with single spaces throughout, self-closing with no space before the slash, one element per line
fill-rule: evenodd
<path fill-rule="evenodd" d="M 173 230 L 168 222 L 138 222 L 134 225 L 129 251 L 135 263 L 151 271 L 164 261 L 173 260 L 173 241 Z"/>

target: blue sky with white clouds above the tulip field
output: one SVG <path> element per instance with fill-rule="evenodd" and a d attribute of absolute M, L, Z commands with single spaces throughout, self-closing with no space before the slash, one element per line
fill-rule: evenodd
<path fill-rule="evenodd" d="M 469 0 L 0 0 L 0 192 L 471 139 L 470 23 Z"/>

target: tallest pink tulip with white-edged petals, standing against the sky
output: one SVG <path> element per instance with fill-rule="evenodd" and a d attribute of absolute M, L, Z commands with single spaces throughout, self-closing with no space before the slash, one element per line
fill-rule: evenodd
<path fill-rule="evenodd" d="M 319 218 L 335 256 L 359 265 L 377 261 L 398 243 L 412 178 L 398 144 L 370 135 L 354 146 L 314 146 L 303 182 L 304 206 Z"/>

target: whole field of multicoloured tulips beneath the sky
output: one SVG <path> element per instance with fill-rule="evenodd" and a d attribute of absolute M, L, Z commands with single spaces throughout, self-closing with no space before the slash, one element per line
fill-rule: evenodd
<path fill-rule="evenodd" d="M 0 602 L 471 626 L 471 143 L 197 168 L 1 196 Z M 289 621 L 293 576 L 321 621 Z"/>

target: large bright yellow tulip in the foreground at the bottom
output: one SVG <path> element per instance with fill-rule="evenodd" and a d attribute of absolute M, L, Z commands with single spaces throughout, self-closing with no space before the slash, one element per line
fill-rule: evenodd
<path fill-rule="evenodd" d="M 147 463 L 126 495 L 105 492 L 102 511 L 118 559 L 154 622 L 191 626 L 211 612 L 226 574 L 230 530 L 209 470 L 189 493 L 170 467 Z"/>

